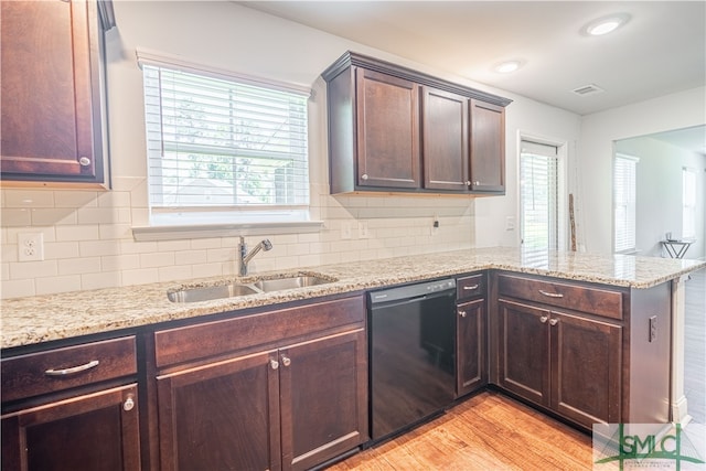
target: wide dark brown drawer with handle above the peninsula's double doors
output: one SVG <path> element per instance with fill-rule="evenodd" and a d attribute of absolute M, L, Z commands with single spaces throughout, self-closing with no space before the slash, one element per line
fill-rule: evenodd
<path fill-rule="evenodd" d="M 498 292 L 500 296 L 622 319 L 622 292 L 620 291 L 500 275 Z"/>

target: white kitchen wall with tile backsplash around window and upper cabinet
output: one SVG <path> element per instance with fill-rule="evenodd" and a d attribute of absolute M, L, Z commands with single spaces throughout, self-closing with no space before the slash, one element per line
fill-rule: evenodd
<path fill-rule="evenodd" d="M 1 192 L 2 298 L 176 281 L 234 272 L 235 237 L 136 242 L 131 227 L 148 222 L 142 77 L 135 49 L 313 86 L 310 106 L 311 195 L 315 234 L 269 236 L 274 249 L 253 271 L 457 249 L 512 246 L 516 231 L 518 131 L 567 142 L 578 139 L 577 115 L 372 50 L 233 2 L 118 1 L 117 29 L 107 35 L 108 125 L 113 190 Z M 507 195 L 472 197 L 366 197 L 328 194 L 325 88 L 321 72 L 346 50 L 370 54 L 514 99 L 506 111 Z M 571 149 L 573 153 L 573 149 Z M 571 156 L 569 156 L 573 158 Z M 431 234 L 432 216 L 441 227 Z M 370 238 L 357 235 L 366 222 Z M 351 224 L 350 239 L 342 225 Z M 41 232 L 43 261 L 19 263 L 19 233 Z M 252 242 L 260 237 L 250 237 Z"/>

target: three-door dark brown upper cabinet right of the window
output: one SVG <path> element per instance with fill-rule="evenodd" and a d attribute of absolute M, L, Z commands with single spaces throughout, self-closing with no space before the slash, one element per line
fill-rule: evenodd
<path fill-rule="evenodd" d="M 510 99 L 352 52 L 322 77 L 332 194 L 504 193 Z"/>

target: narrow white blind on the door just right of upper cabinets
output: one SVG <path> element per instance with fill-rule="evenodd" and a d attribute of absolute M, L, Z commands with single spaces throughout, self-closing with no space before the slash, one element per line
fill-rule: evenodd
<path fill-rule="evenodd" d="M 525 250 L 559 245 L 558 150 L 523 140 L 520 153 L 521 236 Z"/>

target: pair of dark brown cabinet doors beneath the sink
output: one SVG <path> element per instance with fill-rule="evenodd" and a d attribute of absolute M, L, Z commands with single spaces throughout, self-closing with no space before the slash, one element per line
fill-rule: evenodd
<path fill-rule="evenodd" d="M 364 330 L 158 376 L 162 470 L 300 470 L 366 440 Z"/>

